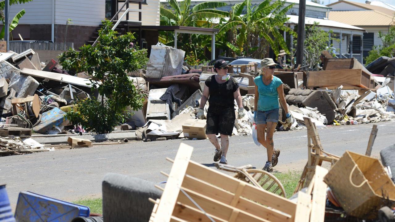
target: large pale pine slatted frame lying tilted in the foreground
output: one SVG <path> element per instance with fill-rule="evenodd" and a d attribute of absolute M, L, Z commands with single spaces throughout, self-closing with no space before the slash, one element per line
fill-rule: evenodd
<path fill-rule="evenodd" d="M 193 147 L 181 143 L 160 199 L 150 199 L 152 222 L 323 222 L 327 170 L 318 167 L 309 192 L 294 203 L 252 184 L 190 160 Z M 314 191 L 314 196 L 311 192 Z M 311 219 L 310 219 L 311 218 Z"/>

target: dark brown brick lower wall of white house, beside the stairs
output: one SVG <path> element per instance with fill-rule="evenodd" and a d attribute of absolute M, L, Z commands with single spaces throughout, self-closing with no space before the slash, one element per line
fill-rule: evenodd
<path fill-rule="evenodd" d="M 80 25 L 66 25 L 56 24 L 55 25 L 55 42 L 73 42 L 74 49 L 78 49 L 90 39 L 94 32 L 97 32 L 98 26 L 80 26 Z"/>

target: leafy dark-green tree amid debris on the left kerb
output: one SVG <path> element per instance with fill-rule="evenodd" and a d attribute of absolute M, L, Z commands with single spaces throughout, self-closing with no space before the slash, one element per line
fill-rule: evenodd
<path fill-rule="evenodd" d="M 98 90 L 100 100 L 95 97 L 79 100 L 76 110 L 66 113 L 66 118 L 97 134 L 109 133 L 124 122 L 128 106 L 133 110 L 143 106 L 143 94 L 126 75 L 126 71 L 141 68 L 136 52 L 129 47 L 135 37 L 130 32 L 117 36 L 109 20 L 102 24 L 94 46 L 83 45 L 80 51 L 70 49 L 59 58 L 63 68 L 85 71 L 92 77 L 89 85 Z"/>

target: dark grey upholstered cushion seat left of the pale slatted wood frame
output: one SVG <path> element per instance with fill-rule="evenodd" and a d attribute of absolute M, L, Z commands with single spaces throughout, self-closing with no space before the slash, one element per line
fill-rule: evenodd
<path fill-rule="evenodd" d="M 148 198 L 162 195 L 155 185 L 140 178 L 107 173 L 102 182 L 103 221 L 149 221 L 154 204 Z"/>

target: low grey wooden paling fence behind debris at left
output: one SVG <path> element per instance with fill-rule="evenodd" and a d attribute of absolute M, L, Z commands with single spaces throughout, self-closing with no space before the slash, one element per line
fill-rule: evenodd
<path fill-rule="evenodd" d="M 10 42 L 9 50 L 15 53 L 22 53 L 28 49 L 33 50 L 61 50 L 66 51 L 69 48 L 74 48 L 73 42 Z"/>

